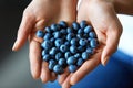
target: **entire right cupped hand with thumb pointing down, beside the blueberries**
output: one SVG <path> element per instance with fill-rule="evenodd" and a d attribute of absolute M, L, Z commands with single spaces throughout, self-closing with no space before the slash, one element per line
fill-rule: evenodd
<path fill-rule="evenodd" d="M 75 85 L 100 63 L 106 64 L 116 51 L 122 33 L 122 25 L 116 16 L 113 3 L 108 0 L 82 0 L 78 11 L 78 22 L 86 20 L 98 34 L 100 47 L 75 73 L 65 73 L 59 81 L 63 88 Z"/>

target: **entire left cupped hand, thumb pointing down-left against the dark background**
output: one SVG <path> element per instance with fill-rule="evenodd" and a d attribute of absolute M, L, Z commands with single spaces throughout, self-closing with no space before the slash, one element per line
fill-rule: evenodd
<path fill-rule="evenodd" d="M 41 61 L 40 41 L 34 37 L 37 30 L 59 21 L 71 23 L 75 21 L 76 0 L 33 0 L 23 12 L 13 51 L 18 51 L 29 38 L 30 67 L 33 78 L 41 77 L 43 82 L 54 80 L 55 74 L 48 69 L 48 64 Z"/>

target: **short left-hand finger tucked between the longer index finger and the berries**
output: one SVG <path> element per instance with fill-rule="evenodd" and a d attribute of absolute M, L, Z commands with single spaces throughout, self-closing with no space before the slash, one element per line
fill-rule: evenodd
<path fill-rule="evenodd" d="M 51 80 L 51 73 L 48 68 L 47 62 L 42 62 L 41 80 L 42 80 L 42 82 L 47 82 L 47 81 Z"/>

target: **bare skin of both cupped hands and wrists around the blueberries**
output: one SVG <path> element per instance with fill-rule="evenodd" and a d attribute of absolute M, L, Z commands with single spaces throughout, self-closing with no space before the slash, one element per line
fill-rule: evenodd
<path fill-rule="evenodd" d="M 51 6 L 52 4 L 52 6 Z M 18 51 L 29 38 L 30 65 L 33 78 L 40 78 L 43 82 L 57 79 L 55 74 L 49 72 L 48 64 L 41 61 L 40 38 L 34 36 L 39 29 L 51 23 L 64 20 L 81 22 L 86 20 L 98 34 L 100 46 L 96 53 L 86 61 L 75 73 L 68 69 L 59 77 L 62 88 L 70 88 L 86 74 L 93 70 L 100 63 L 105 65 L 109 57 L 116 51 L 122 25 L 116 13 L 133 14 L 133 0 L 82 0 L 76 14 L 76 0 L 33 0 L 23 12 L 17 41 L 13 51 Z M 54 14 L 54 16 L 53 16 Z"/>

